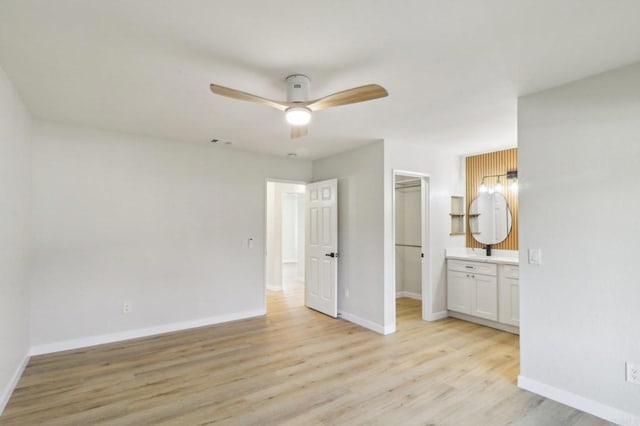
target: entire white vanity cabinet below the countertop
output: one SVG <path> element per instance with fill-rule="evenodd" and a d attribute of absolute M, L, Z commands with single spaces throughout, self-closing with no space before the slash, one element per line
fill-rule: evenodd
<path fill-rule="evenodd" d="M 451 316 L 517 333 L 518 265 L 447 259 L 447 309 Z"/>

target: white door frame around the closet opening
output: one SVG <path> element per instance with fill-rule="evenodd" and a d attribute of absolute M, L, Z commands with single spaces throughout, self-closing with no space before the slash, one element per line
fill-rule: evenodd
<path fill-rule="evenodd" d="M 391 242 L 393 244 L 393 290 L 394 290 L 394 300 L 393 306 L 390 308 L 393 310 L 393 321 L 394 321 L 394 329 L 395 329 L 395 320 L 396 320 L 396 304 L 395 304 L 395 291 L 396 291 L 396 260 L 395 260 L 395 243 L 396 243 L 396 176 L 411 176 L 420 178 L 421 180 L 421 188 L 420 188 L 420 222 L 421 222 L 421 237 L 422 237 L 422 253 L 424 253 L 424 258 L 422 260 L 422 319 L 425 321 L 429 321 L 431 318 L 431 313 L 433 310 L 432 303 L 432 292 L 431 292 L 431 240 L 430 240 L 430 228 L 429 228 L 429 218 L 430 218 L 430 193 L 431 193 L 431 175 L 428 173 L 420 173 L 420 172 L 412 172 L 408 170 L 392 170 L 392 188 L 391 192 L 391 203 L 392 203 L 392 211 L 391 211 Z"/>

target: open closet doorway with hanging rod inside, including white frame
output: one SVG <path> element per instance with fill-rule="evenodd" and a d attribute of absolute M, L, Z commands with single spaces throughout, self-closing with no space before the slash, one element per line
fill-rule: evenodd
<path fill-rule="evenodd" d="M 405 320 L 428 316 L 428 177 L 394 173 L 393 200 L 396 324 L 402 327 Z"/>

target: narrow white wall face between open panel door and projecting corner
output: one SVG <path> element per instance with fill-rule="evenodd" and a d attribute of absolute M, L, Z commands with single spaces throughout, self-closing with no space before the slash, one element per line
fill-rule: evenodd
<path fill-rule="evenodd" d="M 313 162 L 314 182 L 338 179 L 338 311 L 379 332 L 384 331 L 383 157 L 383 142 L 375 142 Z"/>

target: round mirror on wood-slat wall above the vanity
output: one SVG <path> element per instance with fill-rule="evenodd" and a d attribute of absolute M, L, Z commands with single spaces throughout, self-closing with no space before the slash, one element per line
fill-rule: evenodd
<path fill-rule="evenodd" d="M 482 244 L 498 244 L 511 232 L 511 210 L 499 192 L 478 195 L 469 207 L 469 230 Z"/>

